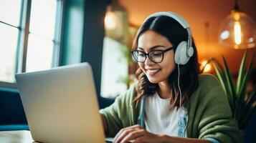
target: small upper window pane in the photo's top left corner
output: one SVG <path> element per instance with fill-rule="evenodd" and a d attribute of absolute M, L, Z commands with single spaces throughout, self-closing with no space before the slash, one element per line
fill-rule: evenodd
<path fill-rule="evenodd" d="M 0 21 L 19 26 L 21 0 L 0 0 Z"/>

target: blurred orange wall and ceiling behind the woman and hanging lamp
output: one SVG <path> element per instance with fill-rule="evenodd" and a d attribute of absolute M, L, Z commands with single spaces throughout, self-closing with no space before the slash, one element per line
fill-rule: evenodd
<path fill-rule="evenodd" d="M 218 44 L 219 25 L 232 10 L 233 0 L 119 0 L 118 2 L 128 11 L 128 21 L 136 26 L 140 26 L 146 16 L 156 11 L 174 11 L 180 14 L 191 26 L 199 61 L 211 57 L 221 61 L 221 56 L 224 55 L 232 73 L 237 74 L 245 50 L 227 49 Z M 240 0 L 238 2 L 240 9 L 256 21 L 256 1 Z M 209 24 L 208 29 L 206 23 Z M 248 58 L 251 59 L 256 48 L 248 51 Z M 256 68 L 256 62 L 254 67 Z"/>

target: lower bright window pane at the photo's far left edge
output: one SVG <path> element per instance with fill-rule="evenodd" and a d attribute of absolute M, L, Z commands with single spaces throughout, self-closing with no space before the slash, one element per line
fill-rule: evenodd
<path fill-rule="evenodd" d="M 0 23 L 0 81 L 14 82 L 18 29 Z"/>

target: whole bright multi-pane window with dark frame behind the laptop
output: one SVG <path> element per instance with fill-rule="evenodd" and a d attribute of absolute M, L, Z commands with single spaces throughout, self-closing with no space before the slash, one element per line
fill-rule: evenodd
<path fill-rule="evenodd" d="M 61 0 L 0 1 L 0 82 L 58 65 Z"/>

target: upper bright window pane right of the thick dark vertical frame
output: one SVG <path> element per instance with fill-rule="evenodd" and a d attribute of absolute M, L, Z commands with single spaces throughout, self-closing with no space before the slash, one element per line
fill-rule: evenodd
<path fill-rule="evenodd" d="M 32 0 L 29 31 L 33 34 L 54 38 L 56 0 Z"/>

